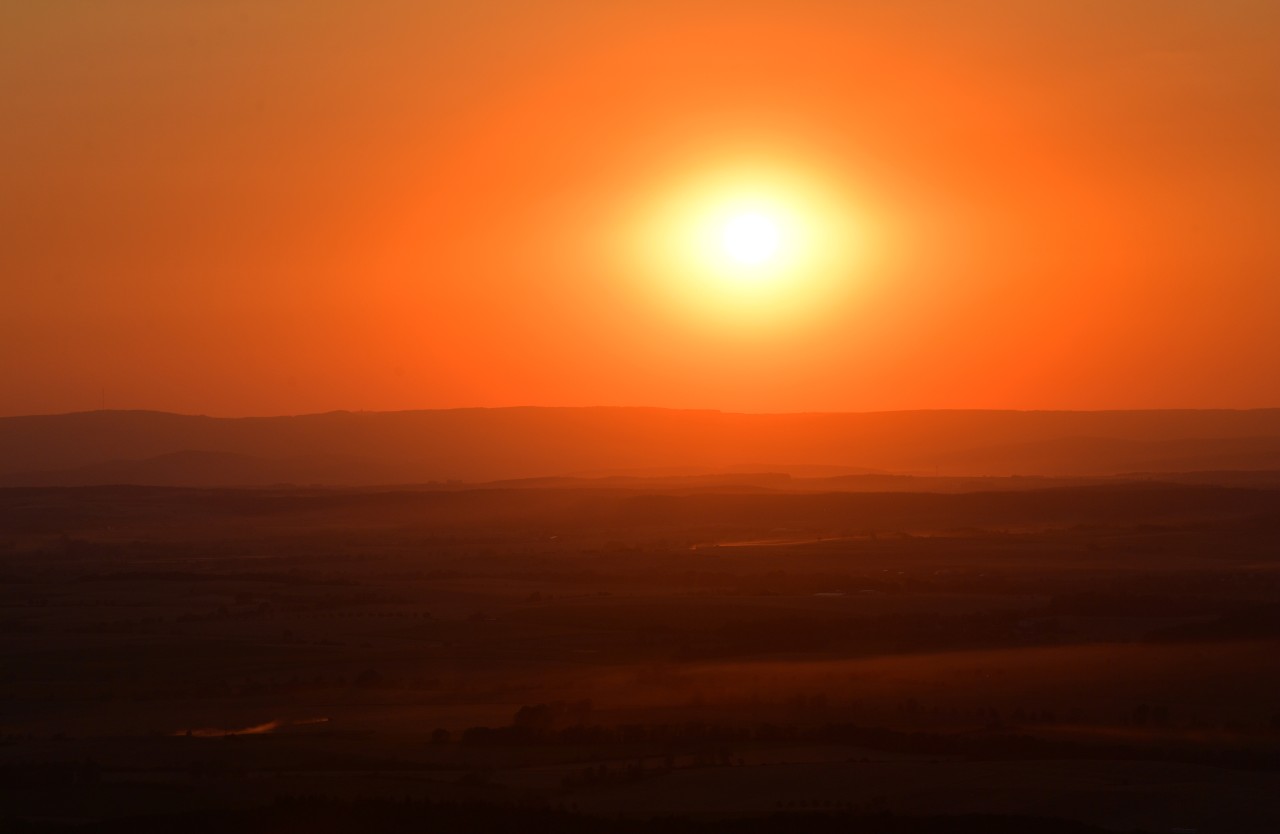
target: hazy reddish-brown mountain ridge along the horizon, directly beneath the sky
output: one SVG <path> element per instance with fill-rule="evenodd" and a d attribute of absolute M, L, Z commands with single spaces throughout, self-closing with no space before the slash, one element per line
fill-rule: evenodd
<path fill-rule="evenodd" d="M 768 463 L 763 463 L 768 462 Z M 1102 476 L 1280 469 L 1280 409 L 742 414 L 465 408 L 0 418 L 0 485 L 253 486 L 644 472 Z"/>

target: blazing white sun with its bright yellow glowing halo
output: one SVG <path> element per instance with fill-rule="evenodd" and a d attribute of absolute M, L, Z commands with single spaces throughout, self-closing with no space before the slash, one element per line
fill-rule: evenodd
<path fill-rule="evenodd" d="M 686 317 L 733 329 L 831 310 L 865 249 L 865 223 L 835 189 L 763 166 L 691 178 L 639 228 L 641 281 Z"/>

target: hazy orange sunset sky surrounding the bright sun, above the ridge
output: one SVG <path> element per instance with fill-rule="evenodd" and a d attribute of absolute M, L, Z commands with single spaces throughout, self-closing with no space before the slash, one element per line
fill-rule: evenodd
<path fill-rule="evenodd" d="M 0 413 L 1280 405 L 1277 56 L 1270 0 L 3 4 Z M 865 238 L 772 320 L 632 244 L 735 165 Z"/>

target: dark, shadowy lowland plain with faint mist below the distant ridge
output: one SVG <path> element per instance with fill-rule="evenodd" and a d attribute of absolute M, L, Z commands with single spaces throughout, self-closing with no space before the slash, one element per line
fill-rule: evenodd
<path fill-rule="evenodd" d="M 0 826 L 1276 831 L 1260 484 L 0 490 Z"/>

